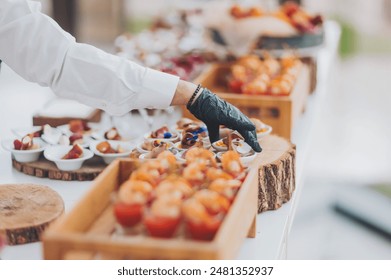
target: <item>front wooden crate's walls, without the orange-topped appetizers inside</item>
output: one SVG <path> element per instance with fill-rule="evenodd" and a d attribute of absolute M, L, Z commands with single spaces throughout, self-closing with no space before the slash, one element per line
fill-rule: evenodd
<path fill-rule="evenodd" d="M 254 161 L 256 165 L 257 161 Z M 45 259 L 232 259 L 243 239 L 255 236 L 258 167 L 251 167 L 213 241 L 114 234 L 111 195 L 139 165 L 119 159 L 93 182 L 86 196 L 43 236 Z"/>

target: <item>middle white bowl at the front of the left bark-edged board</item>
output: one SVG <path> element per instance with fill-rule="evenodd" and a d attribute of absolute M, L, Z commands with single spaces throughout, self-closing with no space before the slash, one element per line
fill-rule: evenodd
<path fill-rule="evenodd" d="M 47 160 L 53 161 L 57 168 L 63 171 L 80 169 L 84 161 L 94 156 L 90 150 L 83 148 L 83 155 L 77 159 L 62 159 L 73 146 L 50 146 L 45 149 L 43 155 Z"/>

